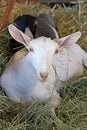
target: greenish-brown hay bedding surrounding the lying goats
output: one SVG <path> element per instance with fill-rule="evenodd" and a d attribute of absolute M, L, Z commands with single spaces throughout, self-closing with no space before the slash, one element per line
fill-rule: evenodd
<path fill-rule="evenodd" d="M 0 9 L 0 18 L 5 8 Z M 20 14 L 38 16 L 42 12 L 51 14 L 58 26 L 60 36 L 80 30 L 82 37 L 78 44 L 87 52 L 87 4 L 79 3 L 72 8 L 58 6 L 52 10 L 46 5 L 15 4 L 8 24 Z M 12 53 L 7 27 L 0 41 L 0 74 Z M 14 103 L 5 96 L 0 88 L 0 129 L 1 130 L 87 130 L 87 69 L 78 78 L 73 78 L 60 91 L 62 102 L 56 109 L 59 125 L 50 117 L 48 107 L 42 101 L 28 104 Z"/>

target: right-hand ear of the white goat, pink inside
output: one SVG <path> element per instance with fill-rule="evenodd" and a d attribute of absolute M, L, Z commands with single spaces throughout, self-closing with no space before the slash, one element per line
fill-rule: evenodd
<path fill-rule="evenodd" d="M 76 33 L 73 33 L 71 35 L 58 39 L 58 44 L 60 47 L 72 45 L 72 44 L 76 43 L 80 37 L 81 37 L 81 32 L 78 31 Z M 57 40 L 56 40 L 56 42 L 57 42 Z"/>

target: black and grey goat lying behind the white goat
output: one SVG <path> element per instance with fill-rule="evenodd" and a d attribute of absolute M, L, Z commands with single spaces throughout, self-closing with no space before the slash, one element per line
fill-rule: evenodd
<path fill-rule="evenodd" d="M 13 24 L 31 38 L 45 36 L 54 39 L 59 37 L 54 19 L 46 13 L 42 13 L 38 17 L 21 15 L 14 20 Z"/>

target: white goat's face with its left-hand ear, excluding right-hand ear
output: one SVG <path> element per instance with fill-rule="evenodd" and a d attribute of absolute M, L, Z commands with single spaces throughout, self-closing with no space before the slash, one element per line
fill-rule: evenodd
<path fill-rule="evenodd" d="M 9 32 L 16 41 L 28 49 L 27 60 L 32 63 L 38 78 L 41 81 L 46 80 L 49 77 L 52 61 L 58 53 L 58 43 L 46 37 L 31 40 L 14 25 L 9 25 Z"/>

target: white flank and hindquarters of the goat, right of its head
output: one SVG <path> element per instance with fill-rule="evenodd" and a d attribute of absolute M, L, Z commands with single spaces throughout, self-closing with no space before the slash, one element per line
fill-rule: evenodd
<path fill-rule="evenodd" d="M 65 41 L 63 41 L 64 39 Z M 66 41 L 66 37 L 61 40 L 65 43 L 72 41 L 72 39 Z M 59 53 L 53 63 L 57 76 L 61 81 L 80 76 L 83 74 L 83 67 L 87 67 L 87 53 L 76 43 L 66 45 L 59 49 Z"/>

